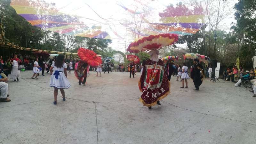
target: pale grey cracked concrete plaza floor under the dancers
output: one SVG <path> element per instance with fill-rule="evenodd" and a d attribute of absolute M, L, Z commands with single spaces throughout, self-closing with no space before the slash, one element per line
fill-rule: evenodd
<path fill-rule="evenodd" d="M 10 80 L 12 101 L 0 103 L 0 143 L 256 143 L 256 98 L 244 87 L 204 80 L 195 92 L 191 80 L 182 89 L 172 77 L 171 94 L 149 110 L 139 102 L 139 73 L 90 74 L 85 86 L 68 74 L 72 86 L 66 101 L 59 92 L 57 105 L 50 74 L 33 80 L 26 71 Z"/>

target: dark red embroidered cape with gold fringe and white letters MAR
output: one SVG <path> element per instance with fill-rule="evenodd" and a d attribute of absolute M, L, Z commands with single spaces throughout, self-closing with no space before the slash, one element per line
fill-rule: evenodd
<path fill-rule="evenodd" d="M 156 65 L 157 63 L 157 65 Z M 156 66 L 156 67 L 155 67 Z M 155 72 L 154 72 L 155 71 Z M 147 60 L 139 81 L 140 102 L 152 107 L 170 92 L 170 83 L 164 71 L 164 62 Z"/>

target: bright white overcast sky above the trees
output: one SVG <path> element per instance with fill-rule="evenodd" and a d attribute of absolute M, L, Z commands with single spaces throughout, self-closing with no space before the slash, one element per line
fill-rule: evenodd
<path fill-rule="evenodd" d="M 151 10 L 151 16 L 147 19 L 152 23 L 159 23 L 159 12 L 169 5 L 176 5 L 178 2 L 188 0 L 45 0 L 48 3 L 55 3 L 59 12 L 77 16 L 88 27 L 100 26 L 101 31 L 107 31 L 112 40 L 110 46 L 117 51 L 125 52 L 128 45 L 134 41 L 126 23 L 131 20 L 131 11 L 141 12 L 142 7 L 147 6 Z M 233 7 L 238 0 L 228 0 L 227 7 Z M 126 9 L 127 8 L 127 9 Z M 229 31 L 230 23 L 235 22 L 234 11 L 228 15 L 227 19 L 220 23 L 222 30 Z M 125 47 L 126 45 L 126 47 Z M 178 44 L 179 47 L 186 48 L 186 44 Z"/>

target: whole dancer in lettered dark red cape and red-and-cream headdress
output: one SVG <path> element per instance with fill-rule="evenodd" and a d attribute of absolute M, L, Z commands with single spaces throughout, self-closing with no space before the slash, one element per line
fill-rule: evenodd
<path fill-rule="evenodd" d="M 151 50 L 148 52 L 151 58 L 146 61 L 139 81 L 139 89 L 142 92 L 140 101 L 149 109 L 156 104 L 161 105 L 160 100 L 170 92 L 170 83 L 164 72 L 164 62 L 158 59 L 157 49 L 171 45 L 177 40 L 178 36 L 175 34 L 148 36 L 130 44 L 127 49 L 129 52 Z"/>

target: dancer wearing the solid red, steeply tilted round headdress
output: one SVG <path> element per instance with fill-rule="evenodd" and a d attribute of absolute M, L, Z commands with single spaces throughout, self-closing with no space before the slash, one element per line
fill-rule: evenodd
<path fill-rule="evenodd" d="M 79 85 L 81 85 L 81 83 L 86 83 L 87 67 L 96 67 L 102 63 L 102 60 L 100 55 L 82 47 L 78 49 L 77 55 L 81 60 L 78 62 L 77 68 L 75 69 L 75 76 L 79 80 Z"/>

